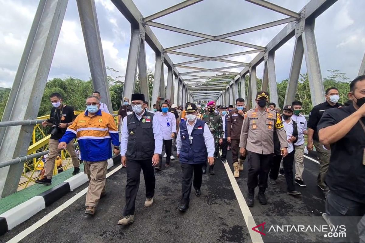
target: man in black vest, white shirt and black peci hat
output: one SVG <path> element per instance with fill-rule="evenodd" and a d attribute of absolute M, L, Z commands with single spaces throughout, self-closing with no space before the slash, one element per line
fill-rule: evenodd
<path fill-rule="evenodd" d="M 134 222 L 134 207 L 141 169 L 146 184 L 145 207 L 152 205 L 156 183 L 153 166 L 160 162 L 162 151 L 161 126 L 158 120 L 154 119 L 154 114 L 144 108 L 145 95 L 132 94 L 131 100 L 133 113 L 123 118 L 120 145 L 122 165 L 128 163 L 124 217 L 118 222 L 122 225 Z"/>

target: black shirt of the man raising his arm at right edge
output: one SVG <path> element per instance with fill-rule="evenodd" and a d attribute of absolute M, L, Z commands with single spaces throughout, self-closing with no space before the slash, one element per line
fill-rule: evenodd
<path fill-rule="evenodd" d="M 337 124 L 356 110 L 353 105 L 324 112 L 317 129 Z M 365 117 L 361 118 L 365 124 Z M 365 131 L 360 122 L 339 141 L 331 144 L 331 158 L 326 184 L 331 191 L 347 199 L 365 203 Z"/>

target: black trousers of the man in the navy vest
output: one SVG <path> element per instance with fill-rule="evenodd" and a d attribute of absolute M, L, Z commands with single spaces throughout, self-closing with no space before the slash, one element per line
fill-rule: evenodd
<path fill-rule="evenodd" d="M 183 170 L 183 181 L 181 182 L 181 204 L 189 205 L 191 184 L 195 190 L 200 189 L 201 180 L 203 178 L 202 167 L 205 163 L 201 164 L 181 164 Z"/>

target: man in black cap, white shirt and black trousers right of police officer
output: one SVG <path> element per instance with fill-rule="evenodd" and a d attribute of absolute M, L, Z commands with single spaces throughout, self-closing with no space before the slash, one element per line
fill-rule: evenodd
<path fill-rule="evenodd" d="M 283 125 L 287 132 L 288 140 L 288 155 L 283 157 L 284 175 L 287 181 L 288 194 L 297 196 L 301 195 L 300 192 L 295 191 L 294 175 L 293 175 L 293 162 L 294 162 L 294 143 L 298 140 L 298 130 L 295 121 L 291 119 L 293 115 L 293 107 L 287 105 L 283 109 Z"/>

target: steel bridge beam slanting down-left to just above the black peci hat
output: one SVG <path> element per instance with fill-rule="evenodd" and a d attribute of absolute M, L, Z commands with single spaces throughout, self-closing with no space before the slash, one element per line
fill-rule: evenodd
<path fill-rule="evenodd" d="M 126 77 L 124 79 L 124 89 L 123 89 L 123 97 L 128 97 L 130 99 L 132 97 L 132 94 L 134 93 L 140 46 L 141 46 L 141 36 L 139 35 L 139 28 L 132 27 L 131 42 L 129 46 L 128 60 L 127 60 Z"/>

